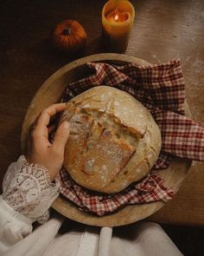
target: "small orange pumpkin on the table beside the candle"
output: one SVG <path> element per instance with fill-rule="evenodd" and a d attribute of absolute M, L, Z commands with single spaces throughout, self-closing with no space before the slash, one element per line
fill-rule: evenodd
<path fill-rule="evenodd" d="M 84 48 L 86 38 L 86 31 L 81 24 L 68 19 L 59 23 L 53 33 L 54 46 L 70 54 Z"/>

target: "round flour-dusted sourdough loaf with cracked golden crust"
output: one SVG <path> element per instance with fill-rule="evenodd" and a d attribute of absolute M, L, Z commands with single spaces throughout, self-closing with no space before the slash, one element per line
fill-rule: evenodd
<path fill-rule="evenodd" d="M 67 102 L 64 120 L 70 123 L 64 167 L 82 187 L 117 193 L 156 163 L 160 130 L 150 112 L 122 90 L 86 90 Z"/>

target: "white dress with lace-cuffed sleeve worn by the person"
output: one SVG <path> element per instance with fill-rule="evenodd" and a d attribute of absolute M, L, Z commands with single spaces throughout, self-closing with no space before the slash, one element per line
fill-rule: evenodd
<path fill-rule="evenodd" d="M 116 229 L 86 226 L 83 231 L 68 231 L 67 226 L 67 233 L 58 233 L 65 220 L 61 214 L 45 222 L 48 208 L 59 194 L 58 185 L 51 183 L 48 170 L 29 165 L 24 156 L 10 165 L 0 197 L 0 255 L 182 255 L 155 223 L 141 222 Z M 32 223 L 39 218 L 45 223 L 33 231 Z"/>

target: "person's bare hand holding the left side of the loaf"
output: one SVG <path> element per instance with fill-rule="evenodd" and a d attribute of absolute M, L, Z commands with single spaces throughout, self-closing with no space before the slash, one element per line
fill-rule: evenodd
<path fill-rule="evenodd" d="M 54 141 L 48 141 L 48 124 L 54 115 L 63 111 L 66 103 L 51 105 L 41 112 L 34 123 L 29 135 L 26 159 L 29 163 L 39 164 L 48 169 L 51 181 L 61 169 L 64 161 L 64 150 L 69 137 L 69 123 L 63 121 L 57 128 Z"/>

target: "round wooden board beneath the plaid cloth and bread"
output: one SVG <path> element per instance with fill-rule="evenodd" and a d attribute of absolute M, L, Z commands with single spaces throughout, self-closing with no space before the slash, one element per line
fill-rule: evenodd
<path fill-rule="evenodd" d="M 29 135 L 29 127 L 35 121 L 35 118 L 41 110 L 47 108 L 49 105 L 59 102 L 61 95 L 71 82 L 77 81 L 89 74 L 90 69 L 87 68 L 86 62 L 109 62 L 112 64 L 126 64 L 134 62 L 137 65 L 149 65 L 142 59 L 133 56 L 126 56 L 120 54 L 98 54 L 93 56 L 86 56 L 74 62 L 70 62 L 58 71 L 51 75 L 41 88 L 35 94 L 32 102 L 29 105 L 27 114 L 22 124 L 22 154 L 25 150 L 26 141 Z M 186 104 L 186 114 L 190 115 L 188 105 Z M 188 169 L 191 161 L 174 158 L 171 165 L 158 174 L 162 176 L 164 185 L 166 187 L 173 187 L 175 193 L 182 184 L 183 179 L 188 174 Z M 90 213 L 85 213 L 78 210 L 73 203 L 65 200 L 61 196 L 54 201 L 52 207 L 59 213 L 63 214 L 71 220 L 92 226 L 123 226 L 142 220 L 152 213 L 155 213 L 164 206 L 163 202 L 153 202 L 141 205 L 126 206 L 109 215 L 98 217 Z"/>

